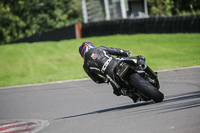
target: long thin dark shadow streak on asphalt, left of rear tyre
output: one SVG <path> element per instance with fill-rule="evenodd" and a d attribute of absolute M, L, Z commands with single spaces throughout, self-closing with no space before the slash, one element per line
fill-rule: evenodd
<path fill-rule="evenodd" d="M 129 109 L 129 108 L 134 108 L 134 107 L 140 107 L 140 106 L 151 104 L 151 103 L 152 102 L 141 102 L 141 103 L 137 103 L 137 104 L 131 104 L 131 105 L 124 105 L 124 106 L 119 106 L 119 107 L 107 108 L 107 109 L 97 110 L 97 111 L 93 111 L 93 112 L 89 112 L 89 113 L 83 113 L 83 114 L 78 114 L 78 115 L 61 117 L 61 118 L 57 118 L 55 120 L 68 119 L 68 118 L 92 115 L 92 114 L 97 114 L 97 113 L 105 113 L 105 112 L 110 112 L 110 111 L 124 110 L 124 109 Z"/>

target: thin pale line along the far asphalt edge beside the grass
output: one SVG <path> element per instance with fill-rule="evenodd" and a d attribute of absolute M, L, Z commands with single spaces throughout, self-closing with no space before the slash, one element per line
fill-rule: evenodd
<path fill-rule="evenodd" d="M 191 69 L 191 68 L 200 68 L 200 66 L 183 67 L 183 68 L 177 68 L 177 69 L 167 69 L 167 70 L 160 70 L 160 71 L 157 71 L 157 72 L 167 72 L 167 71 L 184 70 L 184 69 Z M 26 85 L 17 85 L 17 86 L 7 86 L 7 87 L 0 87 L 0 90 L 1 90 L 1 89 L 8 89 L 8 88 L 19 88 L 19 87 L 28 87 L 28 86 L 39 86 L 39 85 L 48 85 L 48 84 L 57 84 L 57 83 L 67 83 L 67 82 L 76 82 L 76 81 L 85 81 L 85 80 L 90 80 L 90 78 L 75 79 L 75 80 L 65 80 L 65 81 L 56 81 L 56 82 L 47 82 L 47 83 L 37 83 L 37 84 L 26 84 Z"/>

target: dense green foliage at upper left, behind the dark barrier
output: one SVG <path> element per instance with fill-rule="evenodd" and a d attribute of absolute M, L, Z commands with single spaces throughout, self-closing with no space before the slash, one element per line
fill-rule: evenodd
<path fill-rule="evenodd" d="M 0 43 L 80 22 L 73 0 L 1 0 Z"/>

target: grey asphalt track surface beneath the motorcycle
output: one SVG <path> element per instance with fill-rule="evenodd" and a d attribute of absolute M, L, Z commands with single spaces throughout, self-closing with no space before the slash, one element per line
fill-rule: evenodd
<path fill-rule="evenodd" d="M 158 72 L 161 103 L 133 103 L 91 80 L 0 88 L 0 120 L 47 120 L 41 133 L 199 133 L 200 66 Z"/>

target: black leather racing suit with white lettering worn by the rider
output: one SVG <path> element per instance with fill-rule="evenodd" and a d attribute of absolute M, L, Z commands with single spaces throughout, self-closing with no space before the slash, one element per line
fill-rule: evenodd
<path fill-rule="evenodd" d="M 85 54 L 83 68 L 94 82 L 110 82 L 115 92 L 116 89 L 120 89 L 120 85 L 115 81 L 114 69 L 121 60 L 111 55 L 128 57 L 129 54 L 130 51 L 120 48 L 105 46 L 92 48 Z"/>

